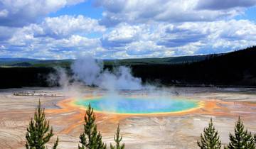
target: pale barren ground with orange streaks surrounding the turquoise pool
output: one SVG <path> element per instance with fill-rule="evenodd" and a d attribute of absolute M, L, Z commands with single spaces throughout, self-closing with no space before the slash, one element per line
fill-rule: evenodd
<path fill-rule="evenodd" d="M 92 94 L 95 89 L 84 89 Z M 109 147 L 113 142 L 117 123 L 120 123 L 126 148 L 197 148 L 203 128 L 210 117 L 223 144 L 228 143 L 229 132 L 233 133 L 235 121 L 241 116 L 245 127 L 256 133 L 256 89 L 218 88 L 170 88 L 188 99 L 206 101 L 206 106 L 184 114 L 156 116 L 120 116 L 97 114 L 97 126 Z M 56 94 L 57 96 L 14 96 L 14 92 Z M 59 95 L 59 96 L 58 96 Z M 64 97 L 65 96 L 65 97 Z M 85 111 L 65 106 L 67 96 L 58 88 L 23 88 L 0 90 L 0 148 L 24 148 L 26 127 L 33 116 L 38 99 L 46 107 L 46 116 L 59 136 L 59 148 L 78 148 Z M 64 104 L 63 104 L 64 103 Z"/>

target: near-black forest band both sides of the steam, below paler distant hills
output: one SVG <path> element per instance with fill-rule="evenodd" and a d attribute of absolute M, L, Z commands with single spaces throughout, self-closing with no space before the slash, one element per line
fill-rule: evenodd
<path fill-rule="evenodd" d="M 221 55 L 208 55 L 205 60 L 181 63 L 142 64 L 131 67 L 135 77 L 143 82 L 176 86 L 256 87 L 256 46 Z M 121 64 L 105 64 L 113 70 Z M 65 69 L 72 75 L 70 66 Z M 48 75 L 57 73 L 53 67 L 0 67 L 0 88 L 50 87 Z M 18 75 L 18 77 L 17 77 Z M 57 81 L 58 82 L 58 81 Z"/>

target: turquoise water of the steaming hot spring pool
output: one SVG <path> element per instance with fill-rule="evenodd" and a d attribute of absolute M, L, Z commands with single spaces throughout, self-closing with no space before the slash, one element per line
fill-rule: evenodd
<path fill-rule="evenodd" d="M 184 111 L 198 107 L 198 101 L 171 99 L 170 97 L 115 97 L 102 96 L 95 99 L 78 99 L 75 104 L 87 107 L 91 104 L 96 111 L 117 114 L 157 114 Z"/>

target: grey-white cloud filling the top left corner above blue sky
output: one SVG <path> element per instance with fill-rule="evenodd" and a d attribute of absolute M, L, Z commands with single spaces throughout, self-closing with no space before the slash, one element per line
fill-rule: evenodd
<path fill-rule="evenodd" d="M 85 0 L 2 0 L 0 26 L 25 26 L 65 6 Z"/>

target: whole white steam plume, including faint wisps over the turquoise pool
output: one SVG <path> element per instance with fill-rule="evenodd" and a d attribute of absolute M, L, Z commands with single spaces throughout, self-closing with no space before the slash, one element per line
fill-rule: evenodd
<path fill-rule="evenodd" d="M 92 57 L 82 57 L 78 60 L 75 60 L 75 62 L 73 62 L 71 65 L 71 74 L 73 75 L 67 75 L 66 70 L 63 68 L 57 68 L 55 70 L 55 75 L 52 75 L 49 78 L 58 76 L 58 84 L 60 87 L 63 87 L 67 96 L 85 96 L 85 86 L 99 87 L 100 93 L 105 90 L 105 101 L 103 102 L 104 104 L 100 105 L 101 109 L 111 109 L 112 111 L 115 111 L 120 99 L 123 98 L 122 92 L 119 92 L 123 89 L 144 89 L 143 92 L 134 92 L 140 92 L 142 96 L 148 96 L 149 94 L 150 96 L 157 95 L 156 99 L 159 102 L 159 96 L 169 96 L 168 90 L 164 91 L 164 89 L 158 89 L 157 87 L 151 86 L 149 84 L 142 84 L 142 79 L 132 76 L 132 72 L 129 67 L 114 67 L 113 70 L 110 71 L 104 69 L 102 60 L 95 60 Z M 98 91 L 93 91 L 90 94 L 97 95 Z M 148 104 L 144 106 L 154 108 L 155 105 Z"/>

